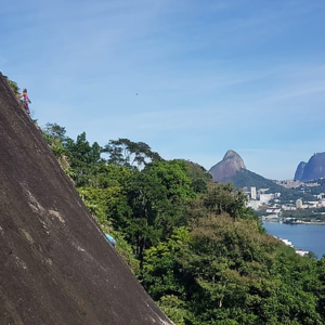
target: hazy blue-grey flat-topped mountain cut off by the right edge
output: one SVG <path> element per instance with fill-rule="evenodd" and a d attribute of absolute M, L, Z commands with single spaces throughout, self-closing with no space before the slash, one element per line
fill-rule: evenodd
<path fill-rule="evenodd" d="M 314 154 L 308 162 L 301 161 L 296 170 L 295 180 L 308 182 L 325 177 L 325 153 Z"/>

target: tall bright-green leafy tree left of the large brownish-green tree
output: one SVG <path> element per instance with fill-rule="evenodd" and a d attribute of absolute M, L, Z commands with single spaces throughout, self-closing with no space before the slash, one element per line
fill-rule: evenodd
<path fill-rule="evenodd" d="M 134 170 L 127 196 L 132 216 L 125 230 L 142 265 L 145 249 L 168 238 L 174 227 L 186 225 L 185 204 L 195 193 L 186 165 L 171 160 Z"/>

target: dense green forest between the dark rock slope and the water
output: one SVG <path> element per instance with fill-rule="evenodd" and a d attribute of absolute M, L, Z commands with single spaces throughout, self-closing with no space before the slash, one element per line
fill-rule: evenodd
<path fill-rule="evenodd" d="M 41 132 L 174 324 L 325 324 L 325 257 L 300 257 L 268 235 L 240 190 L 143 142 L 90 144 L 56 123 Z"/>

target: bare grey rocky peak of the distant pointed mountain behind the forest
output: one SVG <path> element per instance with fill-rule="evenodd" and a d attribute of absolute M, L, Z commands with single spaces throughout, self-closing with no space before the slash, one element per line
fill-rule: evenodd
<path fill-rule="evenodd" d="M 214 182 L 221 182 L 236 176 L 242 169 L 246 169 L 244 160 L 236 152 L 230 150 L 221 161 L 210 168 L 209 172 Z"/>

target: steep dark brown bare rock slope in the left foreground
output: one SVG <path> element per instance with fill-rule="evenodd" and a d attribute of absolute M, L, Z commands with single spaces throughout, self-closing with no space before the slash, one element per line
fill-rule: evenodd
<path fill-rule="evenodd" d="M 170 325 L 0 73 L 0 324 Z"/>

